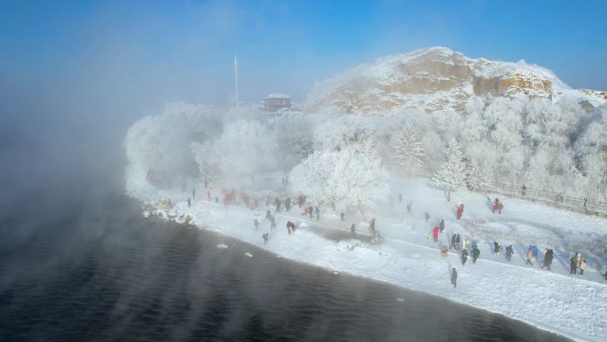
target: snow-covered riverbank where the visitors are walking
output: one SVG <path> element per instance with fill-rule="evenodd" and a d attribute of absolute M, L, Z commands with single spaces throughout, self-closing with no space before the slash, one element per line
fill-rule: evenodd
<path fill-rule="evenodd" d="M 173 209 L 162 211 L 165 218 L 188 215 L 199 227 L 209 227 L 285 258 L 421 290 L 570 338 L 607 340 L 607 282 L 602 276 L 607 267 L 606 219 L 508 198 L 501 198 L 505 206 L 502 214 L 493 214 L 491 203 L 484 195 L 459 192 L 452 194 L 452 202 L 448 203 L 442 191 L 427 183 L 425 179 L 392 179 L 391 200 L 378 203 L 365 219 L 358 213 L 347 215 L 345 221 L 341 221 L 338 213 L 324 207 L 317 222 L 303 219 L 297 206 L 290 212 L 285 212 L 283 207 L 276 216 L 277 229 L 271 232 L 264 212 L 267 209 L 273 212 L 273 208 L 265 207 L 261 197 L 279 194 L 284 198 L 280 176 L 257 179 L 258 188 L 237 187 L 260 198 L 261 206 L 256 211 L 241 204 L 225 206 L 221 198 L 218 204 L 207 201 L 200 186 L 191 208 L 185 202 L 191 193 L 183 194 L 177 188 L 169 191 L 147 187 L 130 195 L 154 205 L 160 198 L 170 198 Z M 223 186 L 233 187 L 232 184 Z M 219 195 L 218 187 L 213 186 L 210 191 L 214 200 Z M 403 195 L 402 203 L 398 202 L 398 193 Z M 411 213 L 406 212 L 408 202 L 412 202 Z M 457 203 L 465 203 L 460 221 L 454 215 Z M 426 211 L 430 213 L 428 223 L 423 218 Z M 383 243 L 367 243 L 366 220 L 372 216 L 376 219 L 375 226 L 386 238 Z M 253 226 L 256 218 L 261 222 L 257 231 Z M 438 243 L 433 243 L 428 240 L 428 234 L 439 219 L 445 219 L 445 232 L 439 235 Z M 288 235 L 287 220 L 296 222 L 295 235 Z M 348 237 L 352 223 L 356 223 L 359 239 Z M 270 239 L 264 244 L 262 234 L 266 231 L 270 232 Z M 447 259 L 440 257 L 438 249 L 448 245 L 447 238 L 455 233 L 460 234 L 462 240 L 468 236 L 477 242 L 481 255 L 476 264 L 469 258 L 466 266 L 461 266 L 456 251 Z M 501 241 L 498 256 L 493 255 L 493 241 Z M 515 250 L 511 262 L 504 257 L 508 244 Z M 528 244 L 538 245 L 540 259 L 545 247 L 555 251 L 551 271 L 541 269 L 538 260 L 533 261 L 533 266 L 525 266 Z M 588 261 L 583 276 L 569 274 L 569 258 L 575 251 L 581 251 Z M 458 271 L 457 289 L 449 281 L 452 266 Z"/>

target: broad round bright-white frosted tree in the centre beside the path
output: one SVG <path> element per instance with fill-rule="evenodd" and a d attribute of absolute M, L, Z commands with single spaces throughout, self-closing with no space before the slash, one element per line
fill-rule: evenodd
<path fill-rule="evenodd" d="M 386 195 L 388 173 L 381 160 L 350 149 L 316 151 L 290 174 L 296 191 L 341 212 L 364 214 Z"/>

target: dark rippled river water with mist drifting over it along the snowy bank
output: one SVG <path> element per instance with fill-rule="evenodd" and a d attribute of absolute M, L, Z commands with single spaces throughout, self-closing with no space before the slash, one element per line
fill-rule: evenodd
<path fill-rule="evenodd" d="M 565 340 L 73 193 L 0 217 L 0 341 Z"/>

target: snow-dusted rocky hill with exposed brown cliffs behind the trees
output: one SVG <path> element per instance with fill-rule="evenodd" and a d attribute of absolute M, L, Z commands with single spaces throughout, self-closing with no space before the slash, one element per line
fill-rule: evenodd
<path fill-rule="evenodd" d="M 552 71 L 524 60 L 503 62 L 470 59 L 445 47 L 382 57 L 343 75 L 317 84 L 306 107 L 341 107 L 346 113 L 389 114 L 400 108 L 433 112 L 450 107 L 465 110 L 471 97 L 492 96 L 573 99 L 597 107 L 607 101 L 604 91 L 578 91 Z"/>

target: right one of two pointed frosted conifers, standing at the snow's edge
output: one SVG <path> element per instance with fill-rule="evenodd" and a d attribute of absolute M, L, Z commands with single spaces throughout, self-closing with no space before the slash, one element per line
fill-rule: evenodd
<path fill-rule="evenodd" d="M 443 187 L 447 192 L 447 201 L 451 201 L 453 190 L 466 187 L 466 162 L 460 144 L 455 139 L 449 141 L 445 155 L 447 161 L 440 166 L 432 182 L 438 187 Z"/>

